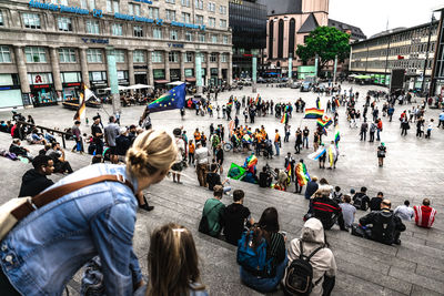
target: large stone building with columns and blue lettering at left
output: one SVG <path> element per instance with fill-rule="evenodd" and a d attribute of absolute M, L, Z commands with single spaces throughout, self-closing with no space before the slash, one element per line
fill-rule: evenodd
<path fill-rule="evenodd" d="M 0 3 L 0 108 L 78 98 L 81 83 L 231 83 L 228 0 L 51 0 Z"/>

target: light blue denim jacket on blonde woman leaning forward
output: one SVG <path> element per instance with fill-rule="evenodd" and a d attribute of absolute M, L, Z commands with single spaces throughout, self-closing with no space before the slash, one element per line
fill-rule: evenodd
<path fill-rule="evenodd" d="M 124 166 L 95 164 L 50 188 Z M 68 194 L 28 215 L 0 242 L 0 266 L 22 295 L 61 295 L 82 265 L 99 255 L 107 295 L 132 295 L 142 279 L 132 248 L 138 203 L 130 187 L 102 182 Z M 1 293 L 0 293 L 1 294 Z"/>

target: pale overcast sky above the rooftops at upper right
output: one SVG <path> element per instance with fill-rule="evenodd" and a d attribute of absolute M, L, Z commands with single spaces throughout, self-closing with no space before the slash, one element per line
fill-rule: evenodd
<path fill-rule="evenodd" d="M 330 0 L 330 19 L 361 28 L 369 38 L 398 27 L 430 22 L 432 10 L 443 0 Z M 440 13 L 435 13 L 438 18 Z"/>

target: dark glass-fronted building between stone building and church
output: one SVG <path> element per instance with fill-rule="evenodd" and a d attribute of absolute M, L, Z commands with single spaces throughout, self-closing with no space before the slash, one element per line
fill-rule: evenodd
<path fill-rule="evenodd" d="M 230 0 L 229 10 L 233 32 L 233 76 L 251 78 L 253 55 L 262 57 L 266 47 L 266 7 L 256 0 Z M 259 64 L 262 62 L 260 60 Z"/>

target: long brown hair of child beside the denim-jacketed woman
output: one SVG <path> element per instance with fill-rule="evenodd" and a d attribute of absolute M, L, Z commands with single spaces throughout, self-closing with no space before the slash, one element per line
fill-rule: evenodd
<path fill-rule="evenodd" d="M 145 296 L 189 295 L 190 288 L 202 290 L 199 258 L 192 234 L 178 224 L 167 224 L 151 235 L 148 253 L 150 274 Z M 191 284 L 198 286 L 191 287 Z"/>

